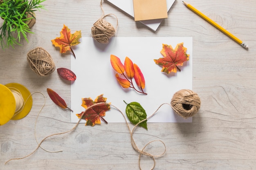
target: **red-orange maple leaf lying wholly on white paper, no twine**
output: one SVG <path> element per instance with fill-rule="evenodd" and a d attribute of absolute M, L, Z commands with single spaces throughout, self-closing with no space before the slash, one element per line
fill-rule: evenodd
<path fill-rule="evenodd" d="M 177 72 L 177 69 L 180 71 L 180 68 L 177 66 L 182 66 L 183 62 L 189 60 L 189 54 L 186 54 L 186 48 L 183 46 L 183 42 L 177 44 L 175 49 L 171 45 L 163 44 L 163 48 L 160 53 L 164 58 L 159 58 L 154 60 L 155 64 L 162 66 L 162 72 L 167 74 Z"/>

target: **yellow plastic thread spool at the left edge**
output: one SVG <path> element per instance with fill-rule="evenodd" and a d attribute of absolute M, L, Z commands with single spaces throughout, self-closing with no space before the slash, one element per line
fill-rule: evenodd
<path fill-rule="evenodd" d="M 18 89 L 25 101 L 23 109 L 18 114 L 15 114 L 16 100 L 9 88 Z M 9 120 L 18 120 L 27 116 L 32 108 L 32 103 L 31 93 L 25 86 L 18 83 L 0 84 L 0 126 Z"/>

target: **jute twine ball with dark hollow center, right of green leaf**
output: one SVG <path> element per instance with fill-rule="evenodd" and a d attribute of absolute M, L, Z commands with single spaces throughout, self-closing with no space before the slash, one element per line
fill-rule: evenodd
<path fill-rule="evenodd" d="M 198 113 L 200 105 L 198 94 L 188 89 L 177 91 L 171 99 L 174 112 L 185 119 Z"/>

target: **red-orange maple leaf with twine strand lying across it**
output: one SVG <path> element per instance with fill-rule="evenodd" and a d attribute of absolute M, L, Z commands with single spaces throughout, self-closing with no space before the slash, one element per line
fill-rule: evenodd
<path fill-rule="evenodd" d="M 101 124 L 101 120 L 108 122 L 103 118 L 106 115 L 106 111 L 110 110 L 110 103 L 106 103 L 107 98 L 102 95 L 97 96 L 93 101 L 92 98 L 83 98 L 83 106 L 86 110 L 80 114 L 76 114 L 79 119 L 85 119 L 85 126 L 94 126 L 95 124 Z"/>

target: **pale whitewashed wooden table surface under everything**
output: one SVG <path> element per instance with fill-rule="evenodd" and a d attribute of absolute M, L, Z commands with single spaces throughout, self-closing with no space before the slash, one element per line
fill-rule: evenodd
<path fill-rule="evenodd" d="M 166 153 L 155 158 L 155 170 L 254 170 L 256 167 L 256 1 L 188 0 L 188 3 L 243 40 L 243 49 L 176 0 L 168 18 L 153 32 L 108 2 L 105 14 L 118 18 L 116 37 L 193 37 L 193 91 L 201 99 L 201 108 L 193 123 L 154 123 L 149 130 L 137 128 L 134 139 L 142 149 L 152 140 L 162 140 Z M 100 0 L 46 0 L 45 9 L 36 11 L 36 24 L 29 43 L 0 49 L 0 84 L 16 82 L 31 93 L 46 96 L 46 105 L 38 117 L 38 141 L 53 133 L 74 127 L 70 112 L 57 107 L 46 89 L 58 89 L 70 104 L 70 84 L 55 72 L 40 77 L 31 71 L 27 52 L 38 46 L 48 51 L 56 68 L 70 68 L 70 53 L 60 54 L 51 40 L 60 36 L 63 24 L 71 31 L 81 30 L 91 37 L 91 27 L 102 14 Z M 107 18 L 115 24 L 115 18 Z M 0 21 L 2 23 L 2 21 Z M 71 56 L 72 57 L 72 56 Z M 82 69 L 82 68 L 81 68 Z M 171 100 L 171 97 L 170 97 Z M 33 95 L 33 107 L 27 117 L 0 126 L 1 170 L 137 170 L 139 152 L 132 148 L 126 124 L 79 126 L 72 132 L 45 140 L 42 147 L 63 152 L 49 153 L 39 148 L 34 137 L 36 116 L 43 105 L 40 93 Z M 132 125 L 130 125 L 132 127 Z M 149 152 L 160 153 L 162 145 L 150 144 Z M 153 166 L 150 157 L 141 157 L 141 168 Z"/>

